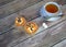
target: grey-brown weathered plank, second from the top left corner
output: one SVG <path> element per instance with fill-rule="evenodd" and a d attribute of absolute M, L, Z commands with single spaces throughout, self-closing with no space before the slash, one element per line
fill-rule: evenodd
<path fill-rule="evenodd" d="M 6 5 L 0 7 L 0 19 L 8 16 L 19 10 L 25 9 L 34 3 L 40 2 L 41 0 L 14 0 Z"/>

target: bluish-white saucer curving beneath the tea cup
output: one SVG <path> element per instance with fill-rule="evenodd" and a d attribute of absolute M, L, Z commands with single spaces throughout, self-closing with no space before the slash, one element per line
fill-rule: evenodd
<path fill-rule="evenodd" d="M 58 13 L 56 16 L 51 17 L 45 13 L 44 8 L 42 7 L 41 10 L 40 10 L 40 14 L 41 14 L 42 17 L 44 17 L 45 21 L 57 21 L 62 17 L 63 12 Z"/>

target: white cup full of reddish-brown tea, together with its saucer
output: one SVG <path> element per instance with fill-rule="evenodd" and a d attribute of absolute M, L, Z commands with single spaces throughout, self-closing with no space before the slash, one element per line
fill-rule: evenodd
<path fill-rule="evenodd" d="M 59 15 L 63 14 L 61 5 L 56 2 L 45 3 L 45 5 L 42 7 L 40 13 L 46 21 L 56 21 L 61 19 Z"/>

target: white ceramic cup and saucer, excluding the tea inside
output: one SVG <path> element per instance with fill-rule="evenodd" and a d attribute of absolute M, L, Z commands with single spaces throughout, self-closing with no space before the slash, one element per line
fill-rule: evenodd
<path fill-rule="evenodd" d="M 45 9 L 46 5 L 48 5 L 48 4 L 55 4 L 55 5 L 58 8 L 57 12 L 55 12 L 55 13 L 48 12 L 48 11 Z M 61 19 L 59 15 L 63 14 L 61 8 L 62 8 L 62 5 L 59 5 L 59 4 L 56 3 L 56 2 L 47 2 L 47 3 L 45 3 L 45 5 L 42 7 L 40 13 L 41 13 L 42 16 L 44 16 L 44 19 L 45 19 L 46 21 L 56 21 L 56 20 Z"/>

